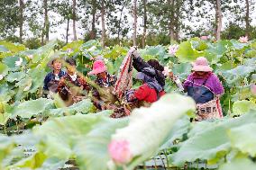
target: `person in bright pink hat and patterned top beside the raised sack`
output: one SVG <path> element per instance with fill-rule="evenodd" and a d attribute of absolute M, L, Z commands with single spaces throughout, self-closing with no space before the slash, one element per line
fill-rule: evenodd
<path fill-rule="evenodd" d="M 95 87 L 93 101 L 96 107 L 100 110 L 114 109 L 110 105 L 116 101 L 112 93 L 117 77 L 107 72 L 103 60 L 96 60 L 93 64 L 93 70 L 90 71 L 88 75 L 96 75 L 96 85 L 100 87 L 96 88 L 96 85 L 90 84 Z"/>

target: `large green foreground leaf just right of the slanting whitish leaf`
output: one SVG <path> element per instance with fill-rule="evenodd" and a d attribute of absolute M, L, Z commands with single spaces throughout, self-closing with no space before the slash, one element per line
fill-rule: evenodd
<path fill-rule="evenodd" d="M 227 130 L 240 127 L 244 124 L 256 122 L 256 114 L 247 113 L 237 119 L 224 119 L 222 121 L 203 121 L 195 125 L 188 133 L 178 152 L 171 155 L 174 165 L 183 166 L 186 162 L 197 159 L 207 160 L 215 164 L 224 158 L 231 149 Z"/>

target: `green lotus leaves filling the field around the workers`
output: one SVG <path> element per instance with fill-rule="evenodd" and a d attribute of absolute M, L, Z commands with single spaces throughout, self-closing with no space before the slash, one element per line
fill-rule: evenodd
<path fill-rule="evenodd" d="M 127 47 L 116 45 L 103 49 L 98 40 L 74 41 L 62 49 L 57 41 L 50 41 L 39 49 L 6 44 L 0 44 L 0 55 L 3 54 L 0 59 L 0 129 L 8 133 L 21 127 L 24 129 L 24 126 L 34 128 L 23 135 L 0 136 L 0 168 L 58 169 L 69 158 L 75 158 L 82 169 L 119 168 L 107 150 L 114 139 L 126 139 L 130 143 L 133 159 L 125 165 L 127 169 L 133 169 L 158 153 L 167 154 L 169 165 L 178 166 L 198 159 L 222 165 L 227 159 L 220 168 L 232 168 L 230 162 L 247 164 L 248 161 L 242 158 L 236 159 L 241 155 L 255 157 L 255 139 L 251 135 L 256 122 L 256 101 L 251 92 L 256 74 L 254 41 L 211 42 L 193 38 L 181 42 L 175 55 L 170 55 L 168 48 L 162 45 L 139 49 L 143 59 L 159 60 L 181 81 L 191 73 L 191 62 L 199 56 L 208 58 L 215 74 L 223 82 L 222 106 L 229 114 L 221 121 L 197 123 L 190 123 L 191 112 L 189 116 L 178 119 L 194 105 L 190 99 L 178 94 L 169 94 L 168 99 L 163 99 L 165 102 L 160 101 L 151 108 L 134 111 L 128 118 L 116 120 L 109 118 L 113 111 L 96 112 L 89 99 L 66 107 L 58 94 L 54 100 L 41 98 L 43 77 L 50 71 L 47 67 L 50 59 L 73 57 L 77 60 L 78 70 L 86 74 L 92 67 L 93 58 L 101 55 L 108 72 L 117 74 L 129 50 Z M 21 58 L 23 62 L 17 62 Z M 87 82 L 98 88 L 90 79 Z M 136 85 L 139 84 L 133 86 Z M 98 90 L 105 94 L 104 89 Z M 165 90 L 176 92 L 177 87 L 168 79 Z M 114 100 L 112 94 L 105 94 L 105 98 Z M 229 117 L 234 115 L 241 117 Z M 20 143 L 37 146 L 37 151 L 24 158 L 23 149 L 16 147 Z M 98 164 L 99 158 L 101 164 Z"/>

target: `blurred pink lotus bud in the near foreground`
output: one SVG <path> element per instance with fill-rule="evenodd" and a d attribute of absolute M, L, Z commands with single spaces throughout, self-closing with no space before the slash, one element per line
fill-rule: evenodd
<path fill-rule="evenodd" d="M 108 153 L 118 165 L 126 164 L 133 158 L 129 148 L 129 142 L 126 140 L 111 141 L 108 145 Z"/>

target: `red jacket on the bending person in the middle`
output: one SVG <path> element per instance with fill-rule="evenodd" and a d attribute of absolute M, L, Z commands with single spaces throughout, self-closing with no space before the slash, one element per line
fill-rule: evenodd
<path fill-rule="evenodd" d="M 161 91 L 159 96 L 162 96 L 163 94 L 165 94 L 165 92 Z M 154 103 L 158 100 L 156 90 L 147 84 L 143 84 L 135 90 L 134 95 L 139 101 L 145 101 L 147 103 Z"/>

